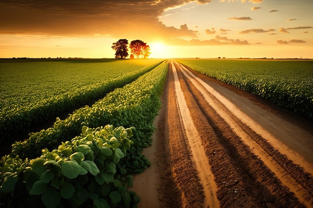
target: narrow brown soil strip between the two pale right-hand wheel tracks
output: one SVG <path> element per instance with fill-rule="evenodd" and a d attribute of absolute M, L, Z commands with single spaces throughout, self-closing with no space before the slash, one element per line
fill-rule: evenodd
<path fill-rule="evenodd" d="M 182 66 L 182 68 L 184 70 L 183 73 L 190 79 L 190 74 L 192 73 L 186 71 L 185 67 Z M 204 97 L 205 94 L 208 94 L 211 98 L 205 98 L 203 100 L 206 100 L 207 102 L 209 100 L 214 101 L 219 106 L 218 112 L 225 111 L 231 117 L 231 119 L 234 121 L 234 123 L 231 125 L 231 128 L 236 130 L 236 133 L 240 135 L 242 141 L 244 141 L 244 143 L 249 146 L 251 152 L 254 155 L 260 157 L 265 166 L 270 167 L 270 171 L 275 174 L 275 177 L 279 178 L 279 181 L 282 183 L 282 185 L 290 189 L 291 192 L 293 192 L 298 198 L 298 200 L 306 207 L 311 207 L 313 205 L 312 176 L 305 172 L 302 167 L 294 164 L 287 158 L 287 156 L 280 154 L 279 151 L 274 149 L 264 138 L 256 134 L 247 125 L 241 122 L 236 116 L 233 115 L 231 111 L 229 111 L 229 109 L 227 109 L 220 101 L 214 98 L 214 96 L 212 96 L 206 90 L 206 88 L 201 85 L 201 83 L 195 81 L 194 79 L 190 80 L 193 80 L 193 83 L 197 88 L 204 89 Z M 203 92 L 201 91 L 200 94 L 203 95 Z M 201 101 L 202 100 L 199 100 L 199 102 Z M 207 104 L 207 102 L 204 102 L 202 105 Z M 205 111 L 207 107 L 202 107 L 202 109 Z"/>

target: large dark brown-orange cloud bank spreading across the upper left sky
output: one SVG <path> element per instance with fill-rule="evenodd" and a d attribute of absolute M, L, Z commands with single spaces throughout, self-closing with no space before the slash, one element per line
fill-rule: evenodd
<path fill-rule="evenodd" d="M 166 27 L 157 18 L 164 9 L 191 1 L 196 0 L 1 0 L 0 34 L 154 38 L 161 31 L 167 38 L 196 37 L 197 31 Z"/>

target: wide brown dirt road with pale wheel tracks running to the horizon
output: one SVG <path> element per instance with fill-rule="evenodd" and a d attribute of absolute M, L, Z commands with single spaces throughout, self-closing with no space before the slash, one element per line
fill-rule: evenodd
<path fill-rule="evenodd" d="M 139 208 L 313 207 L 313 130 L 170 61 Z M 288 117 L 286 117 L 288 118 Z"/>

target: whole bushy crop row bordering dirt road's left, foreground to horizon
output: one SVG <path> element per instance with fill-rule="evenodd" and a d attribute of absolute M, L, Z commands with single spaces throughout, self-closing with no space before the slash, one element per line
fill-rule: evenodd
<path fill-rule="evenodd" d="M 149 166 L 141 151 L 151 142 L 167 65 L 16 142 L 0 161 L 0 204 L 135 208 L 140 198 L 128 191 L 128 174 Z"/>

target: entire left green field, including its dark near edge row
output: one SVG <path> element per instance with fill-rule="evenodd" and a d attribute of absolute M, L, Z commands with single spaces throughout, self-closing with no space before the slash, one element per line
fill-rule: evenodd
<path fill-rule="evenodd" d="M 0 143 L 64 111 L 102 98 L 161 62 L 77 61 L 1 63 Z"/>

